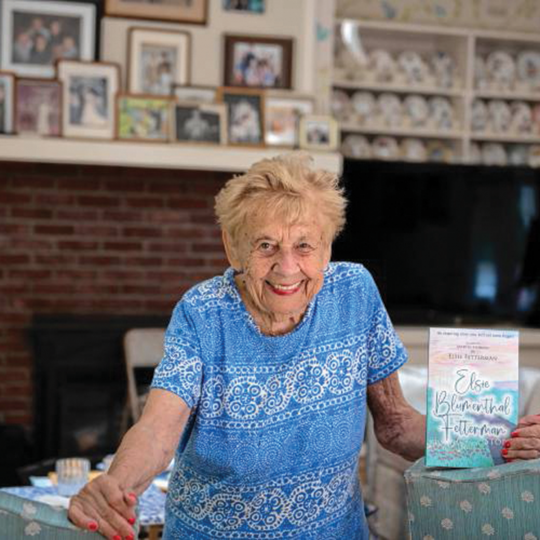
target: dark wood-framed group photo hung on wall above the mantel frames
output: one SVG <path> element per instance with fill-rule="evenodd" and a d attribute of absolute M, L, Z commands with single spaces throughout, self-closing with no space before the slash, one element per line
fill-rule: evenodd
<path fill-rule="evenodd" d="M 292 38 L 225 36 L 225 86 L 292 88 Z"/>

